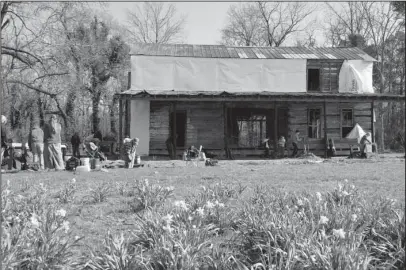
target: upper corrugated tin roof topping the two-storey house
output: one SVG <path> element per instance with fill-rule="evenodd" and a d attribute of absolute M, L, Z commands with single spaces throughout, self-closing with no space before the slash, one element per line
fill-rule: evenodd
<path fill-rule="evenodd" d="M 376 61 L 359 48 L 232 47 L 224 45 L 135 44 L 130 54 L 150 56 L 245 58 L 245 59 L 339 59 Z"/>

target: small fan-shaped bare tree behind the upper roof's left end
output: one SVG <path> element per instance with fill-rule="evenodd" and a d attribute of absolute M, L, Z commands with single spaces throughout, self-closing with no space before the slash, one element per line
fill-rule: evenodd
<path fill-rule="evenodd" d="M 173 4 L 145 2 L 142 8 L 134 5 L 128 11 L 129 32 L 132 39 L 139 43 L 180 42 L 186 18 L 177 15 Z"/>

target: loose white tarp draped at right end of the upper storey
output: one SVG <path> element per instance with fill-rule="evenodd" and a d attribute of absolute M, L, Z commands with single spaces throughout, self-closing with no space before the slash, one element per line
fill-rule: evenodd
<path fill-rule="evenodd" d="M 339 75 L 340 93 L 374 93 L 372 87 L 373 62 L 345 60 Z"/>

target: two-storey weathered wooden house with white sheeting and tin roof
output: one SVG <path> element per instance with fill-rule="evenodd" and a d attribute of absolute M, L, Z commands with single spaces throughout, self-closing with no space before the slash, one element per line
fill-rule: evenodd
<path fill-rule="evenodd" d="M 376 61 L 358 48 L 227 47 L 139 44 L 131 51 L 129 89 L 120 93 L 120 141 L 138 137 L 142 155 L 177 155 L 191 145 L 234 157 L 261 156 L 295 130 L 310 151 L 342 139 L 358 123 L 374 135 Z M 374 137 L 374 136 L 373 136 Z"/>

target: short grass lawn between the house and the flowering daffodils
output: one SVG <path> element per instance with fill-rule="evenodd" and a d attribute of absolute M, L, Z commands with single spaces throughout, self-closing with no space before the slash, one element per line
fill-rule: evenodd
<path fill-rule="evenodd" d="M 193 197 L 201 186 L 224 184 L 246 186 L 238 200 L 230 207 L 238 207 L 240 200 L 249 198 L 258 187 L 294 193 L 333 191 L 338 183 L 348 180 L 367 198 L 386 197 L 403 203 L 405 200 L 405 160 L 403 154 L 378 156 L 370 160 L 333 159 L 321 163 L 306 160 L 243 160 L 220 161 L 218 166 L 198 167 L 183 161 L 147 161 L 143 168 L 109 169 L 108 172 L 19 172 L 2 175 L 3 184 L 10 183 L 16 194 L 27 196 L 30 187 L 44 185 L 55 204 L 67 211 L 74 236 L 84 237 L 84 245 L 99 246 L 107 234 L 131 230 L 137 214 L 130 211 L 129 196 L 123 196 L 125 186 L 136 179 L 148 179 L 150 184 L 174 187 L 171 202 Z M 63 186 L 76 180 L 76 192 L 71 202 L 57 202 L 55 195 Z M 42 184 L 40 184 L 42 183 Z M 91 190 L 108 186 L 106 200 L 91 202 Z M 121 188 L 121 189 L 120 189 Z M 120 191 L 121 190 L 121 191 Z M 100 192 L 102 193 L 102 192 Z M 121 194 L 120 194 L 121 193 Z M 403 204 L 402 204 L 403 205 Z M 404 205 L 402 206 L 404 211 Z"/>

